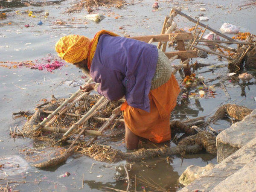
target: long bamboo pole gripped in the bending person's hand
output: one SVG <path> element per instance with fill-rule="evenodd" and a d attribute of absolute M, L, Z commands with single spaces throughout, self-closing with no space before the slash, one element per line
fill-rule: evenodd
<path fill-rule="evenodd" d="M 93 81 L 92 78 L 90 78 L 85 84 L 89 84 L 91 81 Z M 66 101 L 64 101 L 52 114 L 49 114 L 47 118 L 44 118 L 44 120 L 34 128 L 33 131 L 37 131 L 41 126 L 44 126 L 49 120 L 51 120 L 57 113 L 60 111 L 65 105 L 72 102 L 74 99 L 76 99 L 76 96 L 81 92 L 81 90 L 77 90 L 76 93 L 74 93 L 70 98 L 68 98 Z"/>

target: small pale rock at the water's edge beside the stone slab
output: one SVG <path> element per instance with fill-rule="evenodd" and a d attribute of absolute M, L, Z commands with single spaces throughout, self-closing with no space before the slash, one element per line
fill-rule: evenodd
<path fill-rule="evenodd" d="M 206 173 L 207 171 L 212 170 L 214 166 L 215 165 L 212 163 L 209 163 L 205 167 L 191 165 L 187 167 L 187 169 L 183 172 L 182 175 L 180 175 L 179 182 L 187 186 L 195 179 L 200 178 L 200 176 Z"/>

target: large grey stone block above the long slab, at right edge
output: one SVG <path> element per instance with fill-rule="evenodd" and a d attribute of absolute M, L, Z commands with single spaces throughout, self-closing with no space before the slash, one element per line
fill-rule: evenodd
<path fill-rule="evenodd" d="M 236 152 L 256 136 L 256 110 L 240 122 L 231 125 L 216 137 L 217 160 L 222 160 Z"/>

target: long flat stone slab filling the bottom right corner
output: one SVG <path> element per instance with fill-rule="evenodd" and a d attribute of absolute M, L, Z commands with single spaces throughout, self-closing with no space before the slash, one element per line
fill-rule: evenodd
<path fill-rule="evenodd" d="M 215 165 L 212 170 L 209 170 L 188 186 L 180 189 L 180 192 L 192 192 L 195 190 L 211 191 L 213 189 L 213 191 L 219 189 L 218 191 L 221 192 L 255 191 L 255 185 L 253 186 L 253 183 L 251 183 L 253 179 L 255 180 L 255 166 L 251 162 L 256 162 L 256 138 L 221 163 Z M 251 178 L 247 177 L 246 174 L 249 174 Z M 225 183 L 226 185 L 224 185 Z M 243 186 L 243 184 L 246 185 Z M 224 189 L 217 188 L 218 185 L 224 187 Z M 247 185 L 250 187 L 248 190 L 246 188 Z"/>

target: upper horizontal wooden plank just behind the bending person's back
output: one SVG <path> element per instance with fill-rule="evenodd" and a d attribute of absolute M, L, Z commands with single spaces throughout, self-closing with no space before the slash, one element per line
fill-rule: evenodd
<path fill-rule="evenodd" d="M 175 40 L 188 40 L 192 38 L 192 34 L 190 32 L 185 33 L 170 33 L 170 34 L 161 34 L 161 35 L 145 35 L 145 36 L 136 36 L 136 37 L 128 37 L 132 39 L 136 39 L 139 41 L 144 41 L 148 43 L 151 38 L 154 39 L 153 42 L 162 42 L 162 41 L 169 41 L 170 37 L 175 37 Z"/>

